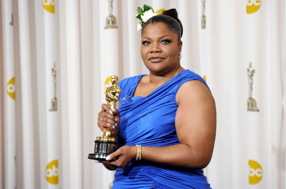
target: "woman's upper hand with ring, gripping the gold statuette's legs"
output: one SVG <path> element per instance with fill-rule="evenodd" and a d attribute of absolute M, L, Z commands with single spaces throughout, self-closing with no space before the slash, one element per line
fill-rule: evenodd
<path fill-rule="evenodd" d="M 118 138 L 119 124 L 120 113 L 118 109 L 110 109 L 108 105 L 102 104 L 101 111 L 98 113 L 97 125 L 104 133 L 104 135 L 106 133 L 106 128 L 109 127 L 112 129 L 110 137 Z"/>

